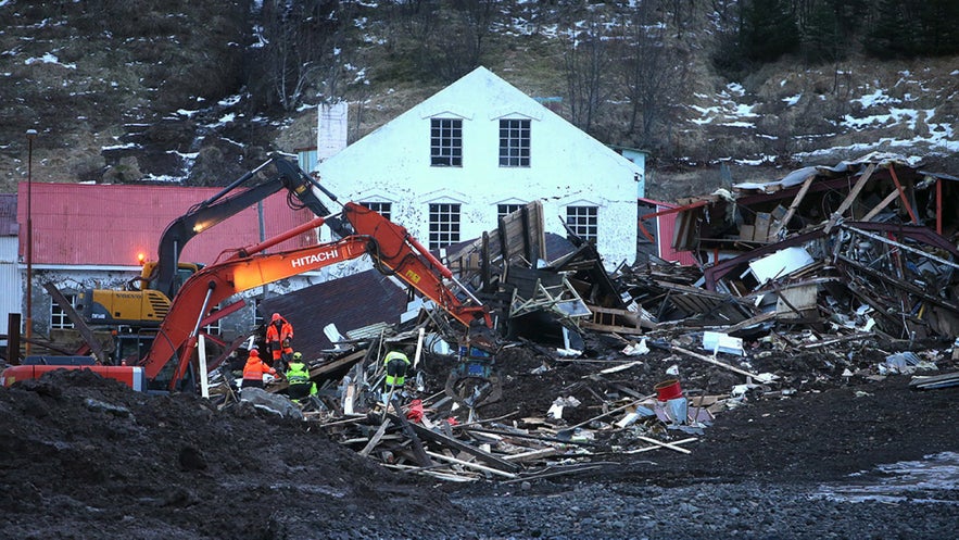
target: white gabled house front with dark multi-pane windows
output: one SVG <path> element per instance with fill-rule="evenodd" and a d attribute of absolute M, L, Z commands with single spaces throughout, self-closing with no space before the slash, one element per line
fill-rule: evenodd
<path fill-rule="evenodd" d="M 318 143 L 320 147 L 323 143 Z M 539 199 L 546 230 L 593 240 L 607 268 L 636 258 L 644 171 L 484 67 L 321 161 L 341 200 L 431 250 L 476 238 Z"/>

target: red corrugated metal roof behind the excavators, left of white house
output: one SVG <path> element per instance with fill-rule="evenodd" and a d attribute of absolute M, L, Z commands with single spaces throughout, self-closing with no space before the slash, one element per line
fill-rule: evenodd
<path fill-rule="evenodd" d="M 223 188 L 173 186 L 88 185 L 27 183 L 18 186 L 17 223 L 20 254 L 26 259 L 27 206 L 33 222 L 33 263 L 96 266 L 136 266 L 137 255 L 156 260 L 160 238 L 166 226 L 190 206 Z M 263 201 L 264 238 L 272 238 L 313 217 L 310 210 L 287 205 L 287 191 Z M 243 210 L 203 231 L 187 243 L 181 260 L 214 262 L 224 250 L 261 241 L 256 205 Z M 316 243 L 306 233 L 272 251 Z"/>

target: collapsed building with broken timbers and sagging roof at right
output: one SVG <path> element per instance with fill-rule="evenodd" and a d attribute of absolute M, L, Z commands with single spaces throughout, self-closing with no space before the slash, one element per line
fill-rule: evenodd
<path fill-rule="evenodd" d="M 716 321 L 717 310 L 691 313 L 674 298 L 671 307 L 728 325 L 774 318 L 894 338 L 956 336 L 956 180 L 870 154 L 680 201 L 666 211 L 677 215 L 672 246 L 704 268 L 702 292 L 685 292 L 703 300 L 698 307 L 735 309 L 717 309 Z"/>

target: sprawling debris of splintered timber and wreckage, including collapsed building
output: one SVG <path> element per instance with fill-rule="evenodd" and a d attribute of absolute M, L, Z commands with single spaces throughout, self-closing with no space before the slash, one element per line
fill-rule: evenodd
<path fill-rule="evenodd" d="M 468 332 L 427 305 L 313 359 L 321 388 L 303 415 L 390 468 L 521 481 L 689 453 L 750 399 L 952 365 L 955 179 L 872 155 L 739 185 L 659 213 L 677 215 L 673 247 L 699 266 L 651 256 L 613 273 L 591 243 L 546 235 L 531 203 L 446 259 L 491 307 L 494 353 L 472 355 Z M 383 395 L 395 348 L 416 351 L 415 376 Z M 269 409 L 269 392 L 251 393 Z"/>

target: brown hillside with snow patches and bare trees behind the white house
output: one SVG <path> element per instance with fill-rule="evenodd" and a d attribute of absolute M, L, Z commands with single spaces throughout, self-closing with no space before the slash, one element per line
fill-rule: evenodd
<path fill-rule="evenodd" d="M 35 181 L 224 185 L 312 146 L 324 100 L 355 140 L 480 64 L 648 149 L 653 197 L 873 150 L 959 172 L 959 59 L 720 70 L 730 2 L 629 3 L 0 0 L 0 191 L 26 179 L 27 129 Z"/>

